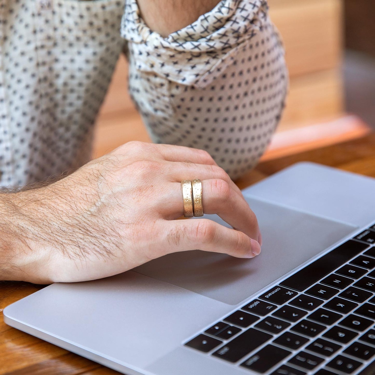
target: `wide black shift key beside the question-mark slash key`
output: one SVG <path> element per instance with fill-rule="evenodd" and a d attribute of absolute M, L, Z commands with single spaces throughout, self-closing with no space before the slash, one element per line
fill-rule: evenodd
<path fill-rule="evenodd" d="M 250 328 L 232 341 L 229 341 L 212 355 L 229 362 L 237 362 L 271 338 L 272 335 L 268 333 Z"/>

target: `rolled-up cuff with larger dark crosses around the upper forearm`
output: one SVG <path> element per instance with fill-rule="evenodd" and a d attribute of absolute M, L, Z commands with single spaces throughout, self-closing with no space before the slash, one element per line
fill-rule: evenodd
<path fill-rule="evenodd" d="M 164 38 L 144 23 L 136 0 L 128 0 L 121 35 L 139 71 L 203 88 L 233 62 L 244 42 L 268 27 L 273 25 L 267 1 L 223 0 Z"/>

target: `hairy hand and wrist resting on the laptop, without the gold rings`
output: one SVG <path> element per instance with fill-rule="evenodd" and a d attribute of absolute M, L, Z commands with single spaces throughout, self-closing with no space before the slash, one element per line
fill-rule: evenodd
<path fill-rule="evenodd" d="M 183 213 L 181 180 L 202 180 L 208 219 Z M 0 278 L 34 283 L 115 275 L 193 249 L 239 258 L 260 253 L 257 219 L 211 156 L 129 142 L 39 189 L 0 195 Z"/>

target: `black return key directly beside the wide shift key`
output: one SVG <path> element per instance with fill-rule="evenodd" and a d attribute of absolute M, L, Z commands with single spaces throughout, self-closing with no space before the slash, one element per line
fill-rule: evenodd
<path fill-rule="evenodd" d="M 289 354 L 291 352 L 288 350 L 273 345 L 266 345 L 258 353 L 255 353 L 254 356 L 241 363 L 241 366 L 264 373 L 281 362 L 285 357 L 288 357 Z"/>

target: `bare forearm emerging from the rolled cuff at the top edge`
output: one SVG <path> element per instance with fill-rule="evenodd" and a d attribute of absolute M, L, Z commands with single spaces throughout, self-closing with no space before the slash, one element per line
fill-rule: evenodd
<path fill-rule="evenodd" d="M 218 3 L 219 0 L 138 0 L 147 26 L 164 37 L 190 25 Z"/>

